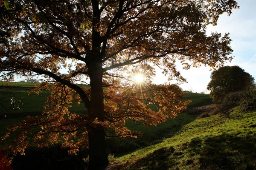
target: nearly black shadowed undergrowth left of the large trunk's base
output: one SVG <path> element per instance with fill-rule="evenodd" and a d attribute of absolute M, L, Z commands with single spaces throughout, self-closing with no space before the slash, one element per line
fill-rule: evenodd
<path fill-rule="evenodd" d="M 17 155 L 12 161 L 14 170 L 84 170 L 87 164 L 83 161 L 88 155 L 80 151 L 70 155 L 67 149 L 60 146 L 31 148 L 25 155 Z"/>

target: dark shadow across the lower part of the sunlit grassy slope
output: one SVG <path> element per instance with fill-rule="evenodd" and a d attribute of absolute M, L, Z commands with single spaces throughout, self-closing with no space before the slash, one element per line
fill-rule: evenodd
<path fill-rule="evenodd" d="M 125 165 L 111 165 L 111 170 L 256 170 L 255 141 L 255 132 L 195 138 L 176 149 L 161 148 Z"/>

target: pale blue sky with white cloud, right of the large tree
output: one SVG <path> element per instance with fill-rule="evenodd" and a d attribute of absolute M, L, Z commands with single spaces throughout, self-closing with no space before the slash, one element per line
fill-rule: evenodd
<path fill-rule="evenodd" d="M 256 79 L 256 0 L 236 0 L 236 2 L 240 8 L 234 9 L 230 16 L 222 14 L 217 26 L 207 27 L 207 34 L 211 32 L 230 33 L 230 38 L 233 40 L 231 56 L 234 58 L 232 62 L 225 65 L 238 65 Z M 183 90 L 209 93 L 207 85 L 211 80 L 212 72 L 209 67 L 182 70 L 182 67 L 177 65 L 177 70 L 187 80 L 187 83 L 180 85 Z M 154 82 L 164 83 L 166 81 L 167 78 L 161 74 L 161 71 L 157 71 L 157 78 Z"/>

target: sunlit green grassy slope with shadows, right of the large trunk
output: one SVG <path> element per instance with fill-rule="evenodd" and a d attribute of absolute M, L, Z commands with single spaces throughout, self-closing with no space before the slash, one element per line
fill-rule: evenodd
<path fill-rule="evenodd" d="M 121 156 L 110 169 L 256 169 L 256 112 L 196 119 L 159 144 Z"/>

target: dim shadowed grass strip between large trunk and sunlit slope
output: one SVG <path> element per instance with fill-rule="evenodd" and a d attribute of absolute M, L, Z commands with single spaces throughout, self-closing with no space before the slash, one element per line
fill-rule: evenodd
<path fill-rule="evenodd" d="M 138 131 L 143 130 L 140 131 L 143 132 L 143 136 L 139 136 L 137 139 L 107 138 L 108 153 L 114 154 L 115 156 L 122 156 L 137 149 L 163 142 L 164 139 L 174 136 L 184 125 L 193 122 L 197 117 L 198 114 L 188 115 L 181 113 L 175 119 L 169 119 L 160 125 L 150 127 L 146 130 L 138 126 Z"/>

